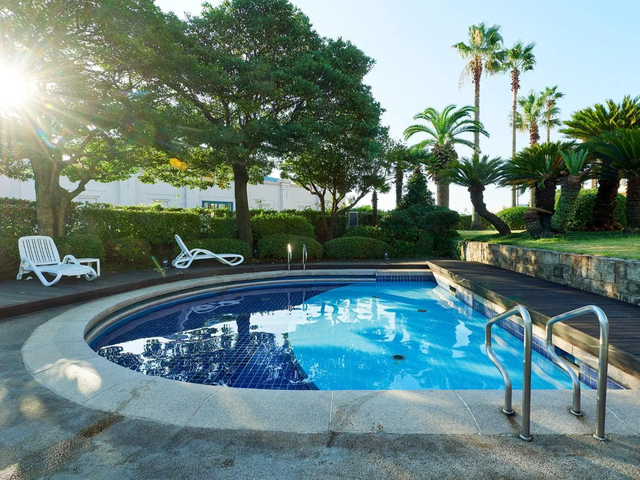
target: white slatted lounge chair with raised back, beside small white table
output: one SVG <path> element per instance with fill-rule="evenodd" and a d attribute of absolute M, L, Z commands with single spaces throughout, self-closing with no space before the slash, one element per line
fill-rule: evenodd
<path fill-rule="evenodd" d="M 94 280 L 98 276 L 90 266 L 79 264 L 73 255 L 66 255 L 60 261 L 60 253 L 58 253 L 58 248 L 51 237 L 40 235 L 20 237 L 18 250 L 20 252 L 18 280 L 22 279 L 22 275 L 33 272 L 45 287 L 51 287 L 63 275 L 84 275 L 87 280 Z M 51 273 L 51 275 L 56 275 L 56 278 L 47 282 L 47 279 L 42 275 L 43 273 Z"/>

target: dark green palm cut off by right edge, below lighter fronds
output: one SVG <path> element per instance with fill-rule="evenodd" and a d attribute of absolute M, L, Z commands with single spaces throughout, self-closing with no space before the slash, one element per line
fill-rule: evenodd
<path fill-rule="evenodd" d="M 586 145 L 610 161 L 627 179 L 625 232 L 640 232 L 640 128 L 603 132 Z"/>

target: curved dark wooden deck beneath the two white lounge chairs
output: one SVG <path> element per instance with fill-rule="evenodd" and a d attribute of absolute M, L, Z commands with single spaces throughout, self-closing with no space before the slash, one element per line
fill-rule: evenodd
<path fill-rule="evenodd" d="M 29 312 L 59 307 L 78 301 L 95 300 L 116 293 L 131 291 L 152 285 L 160 285 L 179 280 L 202 278 L 205 276 L 229 275 L 232 273 L 252 273 L 274 271 L 287 268 L 286 262 L 247 262 L 237 267 L 218 266 L 202 262 L 188 269 L 170 268 L 120 271 L 102 273 L 93 282 L 84 278 L 63 277 L 51 287 L 45 287 L 31 275 L 31 280 L 5 280 L 0 282 L 0 319 Z M 308 262 L 307 269 L 337 268 L 428 268 L 424 259 L 399 260 L 335 260 Z M 291 264 L 291 269 L 300 270 L 300 262 Z M 28 275 L 27 275 L 28 276 Z"/>

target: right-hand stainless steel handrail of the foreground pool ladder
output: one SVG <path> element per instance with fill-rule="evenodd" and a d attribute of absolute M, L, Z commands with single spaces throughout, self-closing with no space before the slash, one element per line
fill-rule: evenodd
<path fill-rule="evenodd" d="M 596 440 L 604 441 L 607 438 L 604 435 L 604 417 L 607 410 L 607 365 L 609 364 L 609 319 L 602 311 L 600 307 L 595 305 L 587 305 L 586 307 L 577 308 L 566 312 L 561 315 L 557 315 L 547 322 L 547 353 L 553 359 L 554 363 L 563 369 L 571 378 L 573 383 L 573 406 L 571 413 L 573 415 L 582 415 L 580 410 L 580 380 L 575 374 L 573 369 L 567 362 L 564 362 L 554 350 L 553 344 L 553 330 L 554 324 L 563 320 L 568 320 L 573 317 L 579 317 L 580 315 L 592 312 L 598 317 L 600 323 L 600 348 L 598 352 L 598 398 L 596 401 L 596 431 L 593 434 L 593 438 Z"/>

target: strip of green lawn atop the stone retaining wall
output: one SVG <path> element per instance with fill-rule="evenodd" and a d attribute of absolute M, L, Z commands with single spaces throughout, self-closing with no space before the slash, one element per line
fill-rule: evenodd
<path fill-rule="evenodd" d="M 556 250 L 556 252 L 584 253 L 601 257 L 640 260 L 640 235 L 620 232 L 568 232 L 549 238 L 532 239 L 525 231 L 499 237 L 495 230 L 458 230 L 461 239 L 470 241 L 504 243 Z"/>

